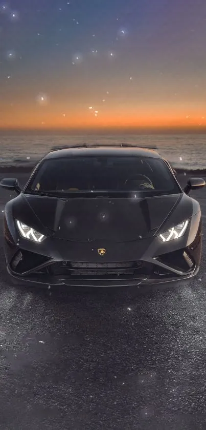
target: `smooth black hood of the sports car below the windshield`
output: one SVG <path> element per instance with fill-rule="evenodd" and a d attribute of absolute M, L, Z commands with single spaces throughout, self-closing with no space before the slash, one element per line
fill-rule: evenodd
<path fill-rule="evenodd" d="M 31 227 L 50 229 L 51 235 L 58 239 L 127 242 L 154 236 L 180 196 L 59 199 L 21 195 L 21 203 L 14 205 L 13 216 L 29 225 L 32 222 Z M 38 220 L 34 221 L 34 217 Z"/>

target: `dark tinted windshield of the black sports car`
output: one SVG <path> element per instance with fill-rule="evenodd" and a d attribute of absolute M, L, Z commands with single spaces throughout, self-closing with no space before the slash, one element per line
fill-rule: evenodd
<path fill-rule="evenodd" d="M 180 189 L 162 159 L 85 156 L 44 160 L 26 192 L 140 192 L 175 194 Z"/>

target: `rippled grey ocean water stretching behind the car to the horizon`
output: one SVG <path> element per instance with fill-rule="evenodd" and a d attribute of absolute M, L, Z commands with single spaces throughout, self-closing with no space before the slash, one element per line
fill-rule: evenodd
<path fill-rule="evenodd" d="M 0 135 L 0 167 L 34 166 L 53 146 L 118 145 L 131 143 L 157 146 L 175 168 L 206 169 L 206 134 L 204 135 Z"/>

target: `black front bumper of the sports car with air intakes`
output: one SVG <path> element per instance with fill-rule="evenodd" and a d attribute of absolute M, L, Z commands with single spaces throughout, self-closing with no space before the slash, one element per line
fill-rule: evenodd
<path fill-rule="evenodd" d="M 7 270 L 15 283 L 45 286 L 134 286 L 180 282 L 195 276 L 201 260 L 201 215 L 190 237 L 185 235 L 167 245 L 157 237 L 127 242 L 104 243 L 106 257 L 95 253 L 100 243 L 52 240 L 38 245 L 6 232 Z M 47 244 L 46 244 L 47 242 Z M 177 249 L 178 248 L 178 249 Z M 134 260 L 134 256 L 136 260 Z M 87 262 L 85 262 L 87 261 Z"/>

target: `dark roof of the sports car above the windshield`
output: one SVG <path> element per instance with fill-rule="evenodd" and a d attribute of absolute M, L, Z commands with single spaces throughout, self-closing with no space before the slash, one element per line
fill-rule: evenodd
<path fill-rule="evenodd" d="M 66 158 L 66 157 L 86 157 L 86 156 L 136 156 L 162 158 L 161 155 L 152 148 L 142 148 L 134 146 L 82 146 L 55 148 L 44 159 Z"/>

